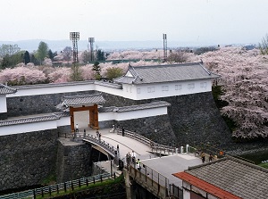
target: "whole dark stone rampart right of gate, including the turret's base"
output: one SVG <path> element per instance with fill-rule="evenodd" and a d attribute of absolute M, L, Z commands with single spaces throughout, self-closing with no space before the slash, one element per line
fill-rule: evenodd
<path fill-rule="evenodd" d="M 141 135 L 159 140 L 161 144 L 172 141 L 172 145 L 176 146 L 197 146 L 205 143 L 221 147 L 233 142 L 230 130 L 222 119 L 211 92 L 141 101 L 105 93 L 103 95 L 106 100 L 105 106 L 147 104 L 154 100 L 172 104 L 168 107 L 167 116 L 119 122 L 125 129 L 136 130 Z"/>

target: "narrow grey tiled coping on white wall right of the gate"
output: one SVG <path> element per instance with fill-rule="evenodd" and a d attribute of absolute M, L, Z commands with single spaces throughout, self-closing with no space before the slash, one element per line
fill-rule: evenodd
<path fill-rule="evenodd" d="M 138 111 L 143 109 L 152 109 L 157 107 L 165 107 L 171 104 L 163 101 L 157 101 L 150 104 L 139 104 L 139 105 L 130 105 L 130 106 L 122 106 L 122 107 L 102 107 L 99 108 L 99 112 L 131 112 L 131 111 Z"/>

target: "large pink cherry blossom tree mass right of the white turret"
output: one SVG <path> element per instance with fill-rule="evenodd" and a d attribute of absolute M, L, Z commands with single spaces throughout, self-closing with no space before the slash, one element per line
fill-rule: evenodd
<path fill-rule="evenodd" d="M 221 112 L 237 126 L 233 137 L 268 137 L 268 55 L 257 49 L 224 47 L 199 58 L 209 70 L 222 76 L 217 83 L 228 105 Z"/>

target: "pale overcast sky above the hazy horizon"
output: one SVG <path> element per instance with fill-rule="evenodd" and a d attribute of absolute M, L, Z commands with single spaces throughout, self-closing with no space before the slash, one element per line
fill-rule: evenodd
<path fill-rule="evenodd" d="M 0 0 L 0 41 L 69 39 L 258 43 L 268 0 Z"/>

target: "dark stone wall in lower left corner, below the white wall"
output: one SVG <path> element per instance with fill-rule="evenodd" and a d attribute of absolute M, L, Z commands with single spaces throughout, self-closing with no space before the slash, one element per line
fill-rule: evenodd
<path fill-rule="evenodd" d="M 56 129 L 0 137 L 0 190 L 38 185 L 54 173 Z"/>

